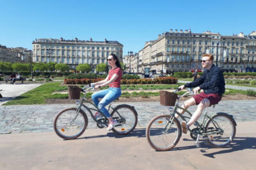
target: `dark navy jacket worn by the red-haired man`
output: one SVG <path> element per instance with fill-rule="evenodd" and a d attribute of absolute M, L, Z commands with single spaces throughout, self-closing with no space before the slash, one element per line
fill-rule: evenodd
<path fill-rule="evenodd" d="M 200 87 L 205 94 L 222 94 L 225 93 L 225 79 L 219 67 L 212 64 L 211 69 L 205 69 L 200 78 L 191 83 L 186 83 L 185 87 Z"/>

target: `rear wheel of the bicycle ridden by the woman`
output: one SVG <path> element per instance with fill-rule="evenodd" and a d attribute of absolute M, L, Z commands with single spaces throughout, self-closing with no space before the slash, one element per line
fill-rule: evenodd
<path fill-rule="evenodd" d="M 111 112 L 111 117 L 117 121 L 112 131 L 118 135 L 131 133 L 137 125 L 138 113 L 128 104 L 120 104 Z"/>

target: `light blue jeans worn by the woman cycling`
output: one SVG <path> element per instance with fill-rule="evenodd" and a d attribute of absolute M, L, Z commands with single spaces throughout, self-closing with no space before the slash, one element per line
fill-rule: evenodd
<path fill-rule="evenodd" d="M 121 89 L 119 87 L 109 87 L 106 90 L 100 90 L 92 94 L 93 103 L 99 108 L 99 110 L 107 117 L 111 117 L 108 110 L 104 108 L 109 103 L 113 102 L 117 97 L 121 96 Z M 101 101 L 99 102 L 99 98 Z"/>

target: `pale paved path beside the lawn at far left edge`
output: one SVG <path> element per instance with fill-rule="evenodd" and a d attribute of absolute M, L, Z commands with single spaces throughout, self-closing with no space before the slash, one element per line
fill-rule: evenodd
<path fill-rule="evenodd" d="M 42 83 L 15 83 L 14 85 L 0 84 L 0 90 L 2 90 L 0 93 L 3 96 L 3 98 L 0 98 L 0 105 L 14 99 L 17 96 L 20 96 L 21 94 L 24 94 L 25 92 L 28 92 L 29 90 L 35 89 L 40 85 L 42 85 Z"/>

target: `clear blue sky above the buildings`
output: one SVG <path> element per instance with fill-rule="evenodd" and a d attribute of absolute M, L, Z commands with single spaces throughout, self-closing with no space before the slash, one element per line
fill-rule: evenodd
<path fill-rule="evenodd" d="M 256 31 L 256 1 L 0 0 L 0 44 L 32 49 L 36 38 L 116 40 L 138 52 L 170 29 Z"/>

